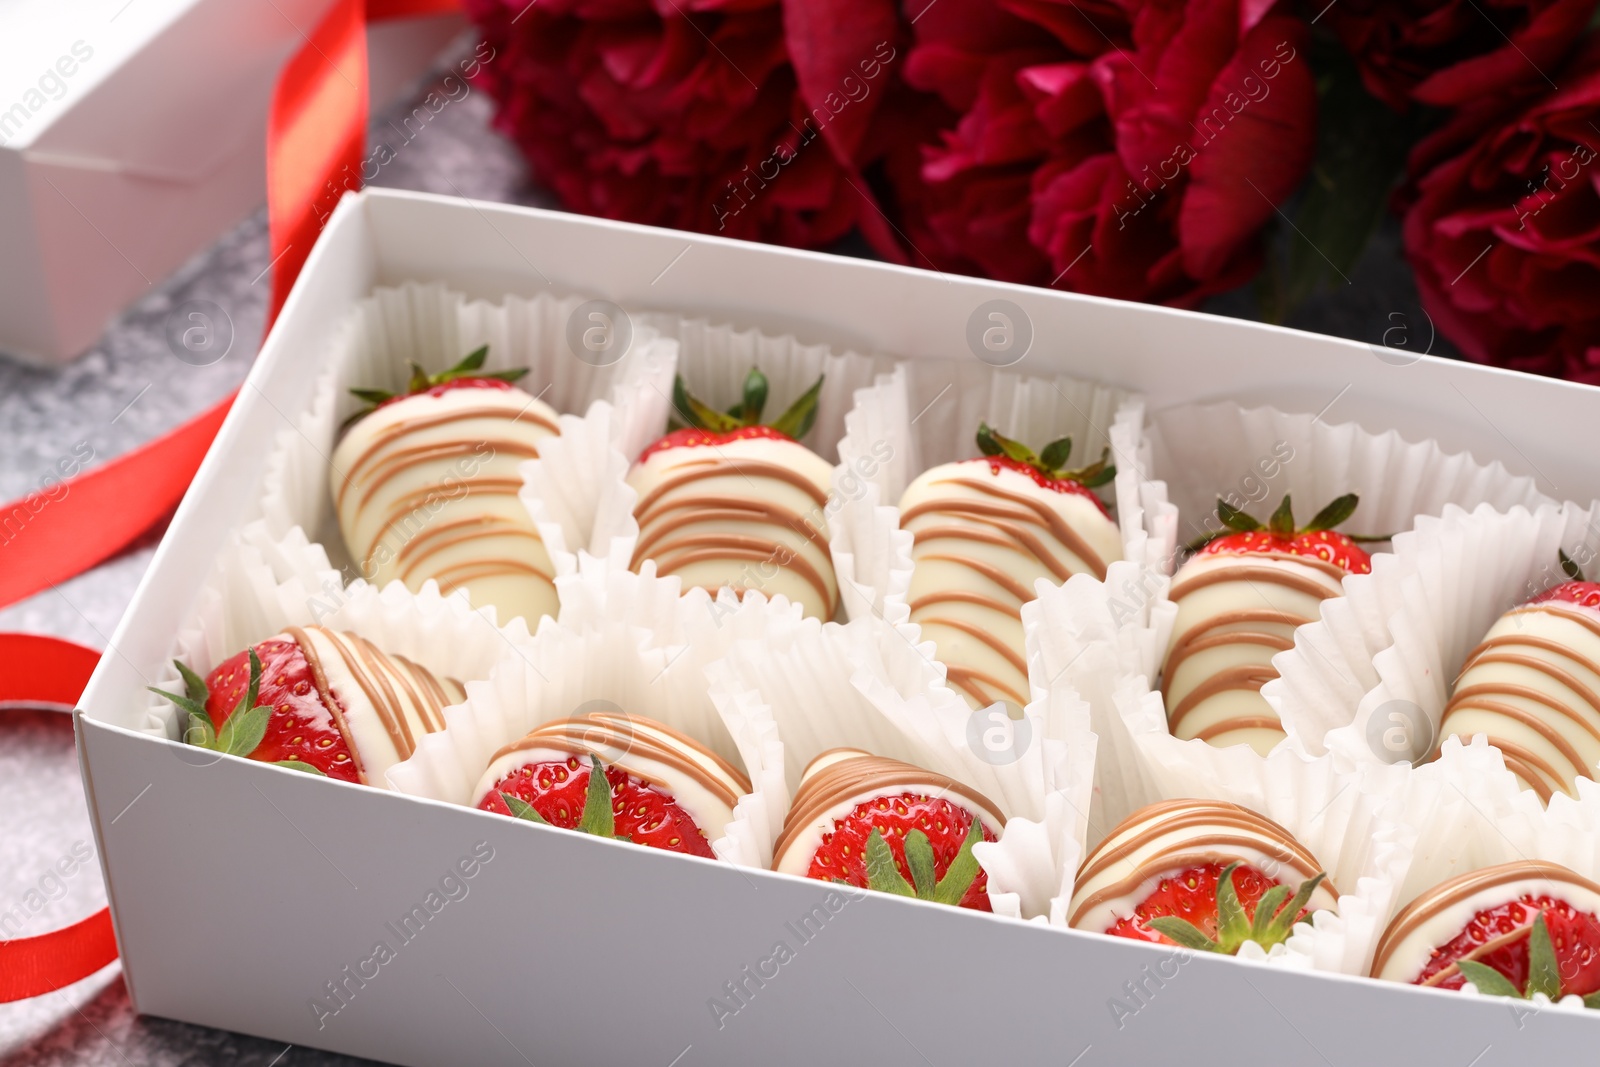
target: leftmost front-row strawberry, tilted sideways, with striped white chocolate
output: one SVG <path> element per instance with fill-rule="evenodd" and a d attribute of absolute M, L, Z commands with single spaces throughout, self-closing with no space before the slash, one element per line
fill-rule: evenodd
<path fill-rule="evenodd" d="M 464 696 L 459 681 L 318 625 L 253 645 L 205 680 L 174 665 L 186 693 L 152 691 L 187 713 L 189 744 L 374 785 Z"/>

